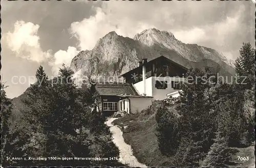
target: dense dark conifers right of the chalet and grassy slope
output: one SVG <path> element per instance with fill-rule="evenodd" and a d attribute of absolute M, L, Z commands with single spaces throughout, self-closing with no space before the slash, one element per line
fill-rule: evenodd
<path fill-rule="evenodd" d="M 159 150 L 173 158 L 172 165 L 226 166 L 229 147 L 248 147 L 255 140 L 255 49 L 250 43 L 243 43 L 235 70 L 237 82 L 225 83 L 217 81 L 214 68 L 190 68 L 186 76 L 194 81 L 182 84 L 180 97 L 156 103 Z"/>

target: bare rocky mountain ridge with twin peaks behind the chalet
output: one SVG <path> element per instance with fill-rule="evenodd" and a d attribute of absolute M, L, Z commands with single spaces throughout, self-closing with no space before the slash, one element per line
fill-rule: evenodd
<path fill-rule="evenodd" d="M 71 69 L 79 76 L 117 76 L 137 67 L 142 58 L 152 60 L 165 56 L 186 67 L 215 67 L 220 74 L 234 75 L 233 61 L 214 49 L 197 44 L 185 44 L 174 34 L 147 29 L 135 37 L 123 37 L 110 32 L 100 38 L 93 50 L 81 51 L 71 62 Z"/>

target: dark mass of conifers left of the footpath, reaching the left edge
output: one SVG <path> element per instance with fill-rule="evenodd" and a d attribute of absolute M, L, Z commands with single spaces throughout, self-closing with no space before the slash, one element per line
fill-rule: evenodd
<path fill-rule="evenodd" d="M 105 126 L 105 117 L 91 112 L 95 89 L 78 89 L 73 71 L 63 65 L 51 79 L 42 66 L 36 71 L 37 82 L 23 100 L 20 122 L 10 127 L 12 102 L 1 84 L 1 164 L 2 166 L 121 166 L 117 160 L 56 160 L 48 157 L 118 157 L 119 150 Z M 60 80 L 61 82 L 57 82 Z M 56 83 L 52 85 L 52 83 Z M 3 143 L 2 143 L 3 142 Z M 26 157 L 10 160 L 7 157 Z M 28 157 L 47 158 L 28 160 Z"/>

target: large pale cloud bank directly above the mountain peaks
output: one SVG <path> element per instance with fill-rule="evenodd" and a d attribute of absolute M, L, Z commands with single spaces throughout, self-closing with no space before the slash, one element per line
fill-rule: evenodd
<path fill-rule="evenodd" d="M 103 2 L 100 8 L 94 8 L 95 15 L 73 22 L 70 32 L 77 38 L 79 50 L 92 50 L 97 40 L 111 31 L 133 38 L 145 29 L 156 28 L 172 32 L 182 42 L 223 52 L 239 50 L 244 39 L 253 34 L 246 21 L 253 18 L 254 13 L 246 2 L 175 1 L 172 7 L 168 4 L 159 1 Z M 243 18 L 245 12 L 249 12 L 248 18 Z M 239 52 L 232 59 L 238 55 Z"/>

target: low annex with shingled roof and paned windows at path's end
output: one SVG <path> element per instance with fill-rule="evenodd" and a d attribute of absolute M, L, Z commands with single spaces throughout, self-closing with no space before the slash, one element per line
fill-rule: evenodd
<path fill-rule="evenodd" d="M 116 111 L 137 113 L 150 106 L 153 100 L 151 96 L 139 95 L 131 83 L 96 82 L 95 89 L 97 97 L 94 108 L 105 115 L 112 115 Z"/>

